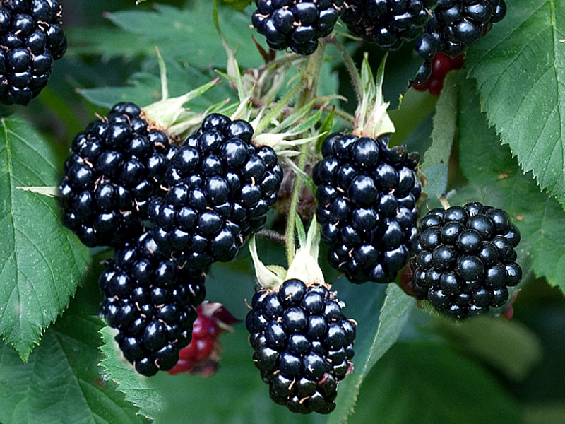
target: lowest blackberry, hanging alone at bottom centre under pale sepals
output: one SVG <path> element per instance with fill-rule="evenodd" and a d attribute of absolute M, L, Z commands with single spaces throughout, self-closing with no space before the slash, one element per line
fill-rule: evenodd
<path fill-rule="evenodd" d="M 355 324 L 322 285 L 287 280 L 258 291 L 247 314 L 254 363 L 271 399 L 295 413 L 330 413 L 352 370 Z"/>

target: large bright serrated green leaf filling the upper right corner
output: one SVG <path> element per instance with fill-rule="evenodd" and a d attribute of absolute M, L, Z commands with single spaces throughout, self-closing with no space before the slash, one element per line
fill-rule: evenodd
<path fill-rule="evenodd" d="M 565 205 L 565 3 L 507 4 L 506 18 L 470 49 L 465 64 L 502 141 Z"/>

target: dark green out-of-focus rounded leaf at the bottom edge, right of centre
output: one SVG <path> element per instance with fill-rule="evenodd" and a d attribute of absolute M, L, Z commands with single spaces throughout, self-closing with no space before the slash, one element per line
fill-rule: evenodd
<path fill-rule="evenodd" d="M 446 343 L 399 341 L 364 380 L 349 424 L 520 424 L 496 379 Z"/>

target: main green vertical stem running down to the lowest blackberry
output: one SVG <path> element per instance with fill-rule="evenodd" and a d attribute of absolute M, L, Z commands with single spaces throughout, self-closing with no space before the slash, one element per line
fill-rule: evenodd
<path fill-rule="evenodd" d="M 299 95 L 297 105 L 295 105 L 296 109 L 307 105 L 308 102 L 316 98 L 320 82 L 320 68 L 323 61 L 323 54 L 325 52 L 326 45 L 322 42 L 316 52 L 312 54 L 308 60 L 307 67 L 302 73 L 302 80 L 306 83 L 306 86 Z M 300 170 L 304 170 L 304 167 L 306 167 L 307 152 L 308 144 L 303 144 L 300 149 L 300 158 L 298 160 L 298 167 Z M 292 264 L 292 259 L 295 259 L 295 229 L 298 201 L 300 199 L 301 190 L 302 180 L 295 177 L 294 187 L 292 187 L 292 196 L 290 198 L 290 208 L 288 211 L 286 228 L 288 266 Z"/>

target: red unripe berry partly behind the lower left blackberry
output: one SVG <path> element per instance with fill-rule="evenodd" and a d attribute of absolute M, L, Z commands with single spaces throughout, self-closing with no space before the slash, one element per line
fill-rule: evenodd
<path fill-rule="evenodd" d="M 186 372 L 189 375 L 213 375 L 218 370 L 222 355 L 220 334 L 238 322 L 220 303 L 203 302 L 196 308 L 198 318 L 192 326 L 192 341 L 182 348 L 179 362 L 167 371 L 171 375 Z"/>

